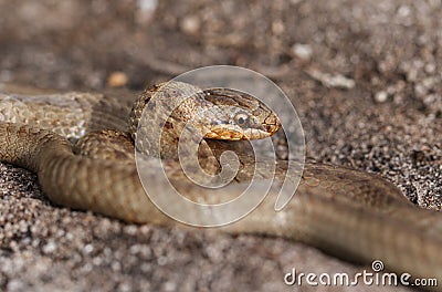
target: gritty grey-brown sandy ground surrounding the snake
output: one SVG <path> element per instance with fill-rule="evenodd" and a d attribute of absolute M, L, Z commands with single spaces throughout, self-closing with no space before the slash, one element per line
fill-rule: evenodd
<path fill-rule="evenodd" d="M 441 208 L 440 0 L 2 0 L 0 28 L 0 82 L 101 91 L 123 72 L 139 91 L 203 65 L 256 70 L 296 106 L 309 159 L 380 174 L 414 204 Z M 0 290 L 380 290 L 286 286 L 292 268 L 364 267 L 282 239 L 71 211 L 29 171 L 0 169 Z"/>

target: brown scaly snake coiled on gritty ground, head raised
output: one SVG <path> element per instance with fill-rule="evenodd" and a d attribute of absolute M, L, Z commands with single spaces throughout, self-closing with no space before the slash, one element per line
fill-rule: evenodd
<path fill-rule="evenodd" d="M 198 108 L 209 109 L 194 122 L 204 133 L 200 163 L 208 171 L 219 170 L 218 150 L 270 138 L 281 126 L 277 115 L 262 102 L 235 92 L 201 91 L 178 103 L 176 95 L 189 92 L 189 86 L 194 90 L 187 83 L 173 83 L 162 100 L 152 103 L 164 85 L 133 96 L 41 92 L 1 84 L 0 160 L 36 173 L 43 192 L 55 205 L 92 210 L 125 222 L 188 228 L 161 212 L 140 184 L 134 140 L 140 133 L 144 107 L 149 106 L 156 114 L 176 108 L 161 125 L 166 131 L 156 155 L 165 157 L 173 181 L 182 185 L 182 192 L 192 200 L 201 195 L 183 182 L 180 163 L 170 153 L 177 147 L 176 131 L 194 117 Z M 236 109 L 223 111 L 223 105 Z M 148 129 L 146 133 L 149 135 Z M 235 180 L 245 181 L 253 176 L 248 167 L 253 158 L 246 147 L 233 149 L 243 149 L 238 154 L 242 168 Z M 275 160 L 276 178 L 287 176 L 288 164 L 286 159 Z M 145 175 L 152 180 L 158 176 L 155 171 Z M 252 212 L 218 229 L 232 234 L 282 237 L 356 263 L 381 260 L 386 271 L 407 272 L 412 279 L 442 280 L 442 218 L 438 211 L 414 206 L 376 174 L 305 163 L 298 175 L 296 194 L 283 210 L 275 212 L 277 194 L 271 189 Z M 155 187 L 164 186 L 159 182 Z M 428 289 L 438 291 L 438 286 Z"/>

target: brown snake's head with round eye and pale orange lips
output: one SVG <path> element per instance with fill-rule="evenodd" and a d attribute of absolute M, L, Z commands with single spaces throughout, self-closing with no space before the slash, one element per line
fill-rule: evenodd
<path fill-rule="evenodd" d="M 204 91 L 206 100 L 222 114 L 213 114 L 204 137 L 249 140 L 272 136 L 281 128 L 277 115 L 260 100 L 230 88 Z"/>

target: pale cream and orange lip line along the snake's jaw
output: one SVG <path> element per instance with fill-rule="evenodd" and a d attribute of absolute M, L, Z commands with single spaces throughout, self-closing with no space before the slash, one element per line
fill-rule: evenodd
<path fill-rule="evenodd" d="M 241 128 L 235 125 L 229 127 L 220 126 L 212 128 L 204 135 L 204 138 L 209 139 L 227 139 L 227 140 L 250 140 L 250 139 L 262 139 L 273 135 L 277 131 L 259 129 L 259 128 Z"/>

